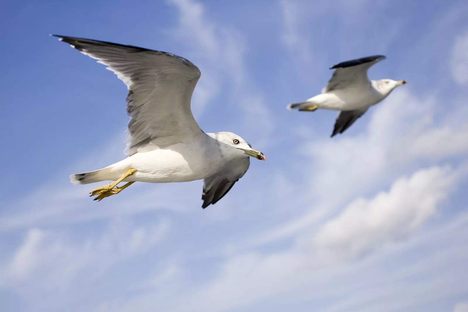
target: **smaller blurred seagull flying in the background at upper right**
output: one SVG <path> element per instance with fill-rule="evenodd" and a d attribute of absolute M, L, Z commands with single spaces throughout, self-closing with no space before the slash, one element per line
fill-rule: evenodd
<path fill-rule="evenodd" d="M 341 62 L 330 67 L 334 69 L 333 75 L 327 86 L 322 89 L 322 94 L 304 102 L 289 104 L 288 109 L 315 111 L 323 108 L 340 111 L 331 136 L 343 133 L 370 106 L 386 98 L 395 87 L 406 83 L 404 80 L 391 79 L 369 81 L 367 70 L 382 59 L 385 59 L 385 56 L 373 55 Z"/>

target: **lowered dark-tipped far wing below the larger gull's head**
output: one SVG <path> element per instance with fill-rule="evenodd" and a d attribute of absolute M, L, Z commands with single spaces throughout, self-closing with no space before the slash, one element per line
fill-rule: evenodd
<path fill-rule="evenodd" d="M 202 208 L 215 204 L 234 186 L 249 169 L 250 157 L 238 158 L 230 161 L 226 167 L 203 180 Z"/>

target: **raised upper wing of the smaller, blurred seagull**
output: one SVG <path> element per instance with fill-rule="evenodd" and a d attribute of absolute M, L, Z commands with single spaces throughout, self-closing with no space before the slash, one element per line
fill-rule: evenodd
<path fill-rule="evenodd" d="M 338 63 L 330 69 L 335 69 L 327 86 L 322 89 L 322 93 L 336 89 L 344 89 L 350 85 L 369 84 L 367 70 L 380 60 L 385 59 L 383 55 L 373 55 L 361 59 L 352 59 Z"/>

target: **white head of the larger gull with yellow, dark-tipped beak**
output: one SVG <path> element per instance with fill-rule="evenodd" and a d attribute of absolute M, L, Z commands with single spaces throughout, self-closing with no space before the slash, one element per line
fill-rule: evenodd
<path fill-rule="evenodd" d="M 221 152 L 233 157 L 254 157 L 259 160 L 265 160 L 262 152 L 252 149 L 252 146 L 242 139 L 239 135 L 232 132 L 217 132 L 214 138 L 219 141 Z"/>

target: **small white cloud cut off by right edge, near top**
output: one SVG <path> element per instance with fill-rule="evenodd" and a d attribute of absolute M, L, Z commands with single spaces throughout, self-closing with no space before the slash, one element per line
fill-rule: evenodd
<path fill-rule="evenodd" d="M 452 69 L 453 80 L 460 85 L 468 84 L 468 31 L 455 38 L 452 48 L 452 59 L 450 67 Z"/>

